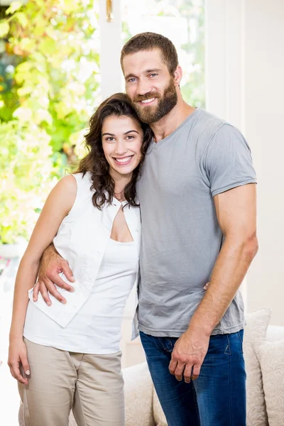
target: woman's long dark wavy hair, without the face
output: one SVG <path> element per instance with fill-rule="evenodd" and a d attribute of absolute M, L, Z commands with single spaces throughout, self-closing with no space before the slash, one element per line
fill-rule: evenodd
<path fill-rule="evenodd" d="M 95 207 L 102 209 L 107 202 L 111 204 L 114 197 L 114 180 L 109 174 L 109 163 L 104 156 L 102 149 L 102 124 L 108 116 L 129 116 L 141 124 L 143 130 L 143 143 L 141 146 L 141 163 L 133 170 L 131 181 L 124 188 L 124 197 L 128 205 L 138 206 L 136 200 L 136 181 L 141 172 L 141 164 L 145 158 L 149 143 L 153 138 L 153 133 L 148 124 L 142 123 L 131 107 L 129 98 L 124 93 L 116 93 L 107 98 L 99 105 L 97 111 L 89 120 L 89 132 L 84 135 L 85 144 L 89 153 L 82 158 L 79 167 L 75 173 L 87 172 L 91 174 L 92 185 L 94 190 L 92 201 Z"/>

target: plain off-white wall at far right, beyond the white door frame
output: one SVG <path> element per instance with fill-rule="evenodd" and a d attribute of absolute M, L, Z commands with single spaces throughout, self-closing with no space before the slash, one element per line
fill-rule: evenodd
<path fill-rule="evenodd" d="M 258 173 L 260 249 L 248 275 L 250 309 L 273 308 L 284 325 L 284 1 L 248 0 L 246 136 Z"/>

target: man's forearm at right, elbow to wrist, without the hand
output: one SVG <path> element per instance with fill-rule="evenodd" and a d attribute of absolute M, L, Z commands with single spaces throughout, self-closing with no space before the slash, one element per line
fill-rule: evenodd
<path fill-rule="evenodd" d="M 256 256 L 256 236 L 238 244 L 227 238 L 215 263 L 210 285 L 190 321 L 189 330 L 210 335 L 223 317 Z"/>

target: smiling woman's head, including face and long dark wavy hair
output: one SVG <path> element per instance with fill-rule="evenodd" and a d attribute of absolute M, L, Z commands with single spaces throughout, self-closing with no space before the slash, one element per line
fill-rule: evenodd
<path fill-rule="evenodd" d="M 102 102 L 89 121 L 85 138 L 89 154 L 80 162 L 78 173 L 91 173 L 94 205 L 101 208 L 113 195 L 119 195 L 136 206 L 139 163 L 152 131 L 138 119 L 126 94 L 115 94 Z"/>

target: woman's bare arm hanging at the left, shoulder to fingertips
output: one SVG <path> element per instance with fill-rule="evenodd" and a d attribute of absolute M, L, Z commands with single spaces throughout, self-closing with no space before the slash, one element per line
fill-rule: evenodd
<path fill-rule="evenodd" d="M 8 365 L 14 378 L 23 384 L 28 379 L 23 377 L 20 367 L 27 375 L 30 373 L 26 345 L 23 342 L 23 326 L 28 307 L 28 290 L 37 278 L 40 258 L 58 232 L 58 228 L 74 204 L 77 184 L 73 176 L 66 176 L 48 195 L 38 222 L 35 224 L 28 247 L 23 254 L 13 296 L 13 314 L 10 329 Z M 27 372 L 28 371 L 28 372 Z"/>

